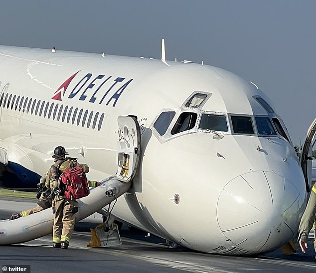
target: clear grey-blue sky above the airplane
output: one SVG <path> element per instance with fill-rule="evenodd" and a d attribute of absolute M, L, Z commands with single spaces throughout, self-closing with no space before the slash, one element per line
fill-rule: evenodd
<path fill-rule="evenodd" d="M 300 145 L 316 117 L 316 0 L 0 0 L 0 44 L 201 61 L 255 83 Z M 315 149 L 315 147 L 314 147 Z"/>

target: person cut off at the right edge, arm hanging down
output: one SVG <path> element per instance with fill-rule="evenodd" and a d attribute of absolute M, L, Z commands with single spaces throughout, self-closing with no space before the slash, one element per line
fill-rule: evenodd
<path fill-rule="evenodd" d="M 316 217 L 316 185 L 312 187 L 312 192 L 309 198 L 309 201 L 307 203 L 306 209 L 304 211 L 304 214 L 302 216 L 300 226 L 299 226 L 299 243 L 300 247 L 303 253 L 306 252 L 308 245 L 308 239 L 309 239 L 309 233 L 313 227 L 314 223 L 314 240 L 316 240 L 315 236 L 315 217 Z M 314 248 L 316 252 L 316 242 L 314 241 Z"/>

